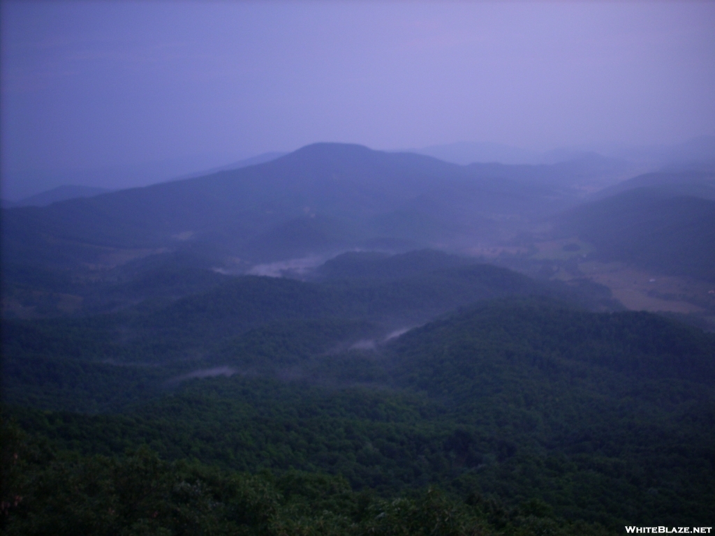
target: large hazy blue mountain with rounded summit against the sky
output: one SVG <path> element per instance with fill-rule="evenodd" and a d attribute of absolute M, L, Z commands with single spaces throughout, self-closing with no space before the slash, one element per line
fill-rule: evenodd
<path fill-rule="evenodd" d="M 489 239 L 495 222 L 557 212 L 591 162 L 458 166 L 358 145 L 314 144 L 220 171 L 49 207 L 4 211 L 5 259 L 107 264 L 114 249 L 203 248 L 270 262 L 363 247 Z M 69 263 L 69 264 L 68 264 Z"/>

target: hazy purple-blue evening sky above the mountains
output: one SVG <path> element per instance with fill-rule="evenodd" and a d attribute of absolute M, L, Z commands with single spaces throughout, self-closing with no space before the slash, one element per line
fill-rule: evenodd
<path fill-rule="evenodd" d="M 546 151 L 715 134 L 711 1 L 0 7 L 6 197 L 61 170 L 188 170 L 313 142 Z"/>

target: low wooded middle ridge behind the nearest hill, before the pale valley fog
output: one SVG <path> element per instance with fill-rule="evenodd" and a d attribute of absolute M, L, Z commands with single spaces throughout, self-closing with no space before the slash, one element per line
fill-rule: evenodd
<path fill-rule="evenodd" d="M 366 272 L 366 266 L 373 272 Z M 375 275 L 383 270 L 382 277 Z M 374 347 L 395 330 L 480 299 L 549 294 L 589 307 L 611 305 L 589 289 L 538 283 L 508 269 L 430 251 L 388 257 L 348 254 L 325 264 L 318 272 L 322 275 L 311 282 L 207 277 L 212 272 L 200 271 L 195 274 L 201 277 L 189 279 L 187 270 L 171 279 L 167 273 L 148 272 L 111 287 L 105 299 L 112 292 L 126 297 L 147 279 L 159 293 L 119 312 L 5 320 L 4 398 L 52 409 L 116 410 L 142 393 L 161 392 L 159 379 L 215 367 L 275 372 L 277 361 L 265 362 L 265 356 L 285 356 L 280 365 L 285 368 L 307 355 Z M 189 289 L 210 288 L 170 299 L 160 285 L 150 283 L 157 278 L 166 282 L 169 293 L 177 289 L 174 282 Z M 99 380 L 78 385 L 78 368 L 89 375 L 114 370 L 114 379 L 111 385 Z M 151 382 L 140 379 L 142 371 Z"/>

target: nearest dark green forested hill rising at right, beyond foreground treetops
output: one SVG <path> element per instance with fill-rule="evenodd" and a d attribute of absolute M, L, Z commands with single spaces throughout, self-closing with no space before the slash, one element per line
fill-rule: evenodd
<path fill-rule="evenodd" d="M 372 349 L 322 351 L 346 329 L 374 328 L 247 332 L 223 355 L 252 363 L 249 374 L 186 379 L 122 415 L 10 412 L 85 455 L 148 445 L 164 460 L 342 475 L 393 497 L 438 485 L 453 500 L 538 504 L 614 530 L 711 514 L 711 335 L 544 299 L 485 302 Z"/>

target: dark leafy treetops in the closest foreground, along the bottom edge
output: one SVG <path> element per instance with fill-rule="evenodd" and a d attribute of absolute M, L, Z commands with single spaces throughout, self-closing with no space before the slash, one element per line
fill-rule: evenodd
<path fill-rule="evenodd" d="M 434 488 L 382 499 L 353 492 L 341 477 L 167 463 L 146 447 L 117 457 L 78 456 L 43 450 L 11 424 L 3 423 L 2 432 L 6 535 L 466 536 L 526 535 L 536 527 L 556 535 L 608 533 L 554 518 L 534 502 L 506 510 Z"/>

